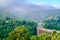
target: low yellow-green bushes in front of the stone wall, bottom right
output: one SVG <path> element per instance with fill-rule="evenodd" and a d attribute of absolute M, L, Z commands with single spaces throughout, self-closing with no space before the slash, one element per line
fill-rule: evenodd
<path fill-rule="evenodd" d="M 31 40 L 60 40 L 60 33 L 53 31 L 52 33 L 40 34 L 32 36 Z"/>

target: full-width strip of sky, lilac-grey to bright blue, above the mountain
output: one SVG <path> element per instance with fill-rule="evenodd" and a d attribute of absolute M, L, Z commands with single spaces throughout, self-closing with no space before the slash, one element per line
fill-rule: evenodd
<path fill-rule="evenodd" d="M 0 0 L 0 5 L 1 6 L 5 6 L 8 5 L 11 2 L 30 2 L 30 3 L 34 3 L 34 4 L 48 4 L 48 5 L 52 5 L 52 6 L 60 6 L 60 0 Z"/>

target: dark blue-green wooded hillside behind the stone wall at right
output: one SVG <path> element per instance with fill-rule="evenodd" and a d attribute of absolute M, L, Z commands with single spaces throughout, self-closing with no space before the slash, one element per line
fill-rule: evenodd
<path fill-rule="evenodd" d="M 43 27 L 60 31 L 60 16 L 51 16 L 43 21 Z"/>

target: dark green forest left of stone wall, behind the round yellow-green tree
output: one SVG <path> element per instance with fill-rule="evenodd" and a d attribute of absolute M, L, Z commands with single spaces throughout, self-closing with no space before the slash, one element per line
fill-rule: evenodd
<path fill-rule="evenodd" d="M 0 39 L 5 39 L 8 37 L 8 34 L 19 26 L 25 26 L 30 35 L 37 34 L 37 23 L 32 21 L 16 20 L 9 17 L 0 18 Z"/>

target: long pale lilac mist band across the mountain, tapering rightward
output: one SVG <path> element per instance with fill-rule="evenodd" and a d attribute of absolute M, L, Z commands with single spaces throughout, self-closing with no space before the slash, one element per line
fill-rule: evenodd
<path fill-rule="evenodd" d="M 28 13 L 28 12 L 32 12 L 35 10 L 37 9 L 31 9 L 31 8 L 26 8 L 26 7 L 21 7 L 21 6 L 10 8 L 11 12 L 17 12 L 17 13 Z"/>

